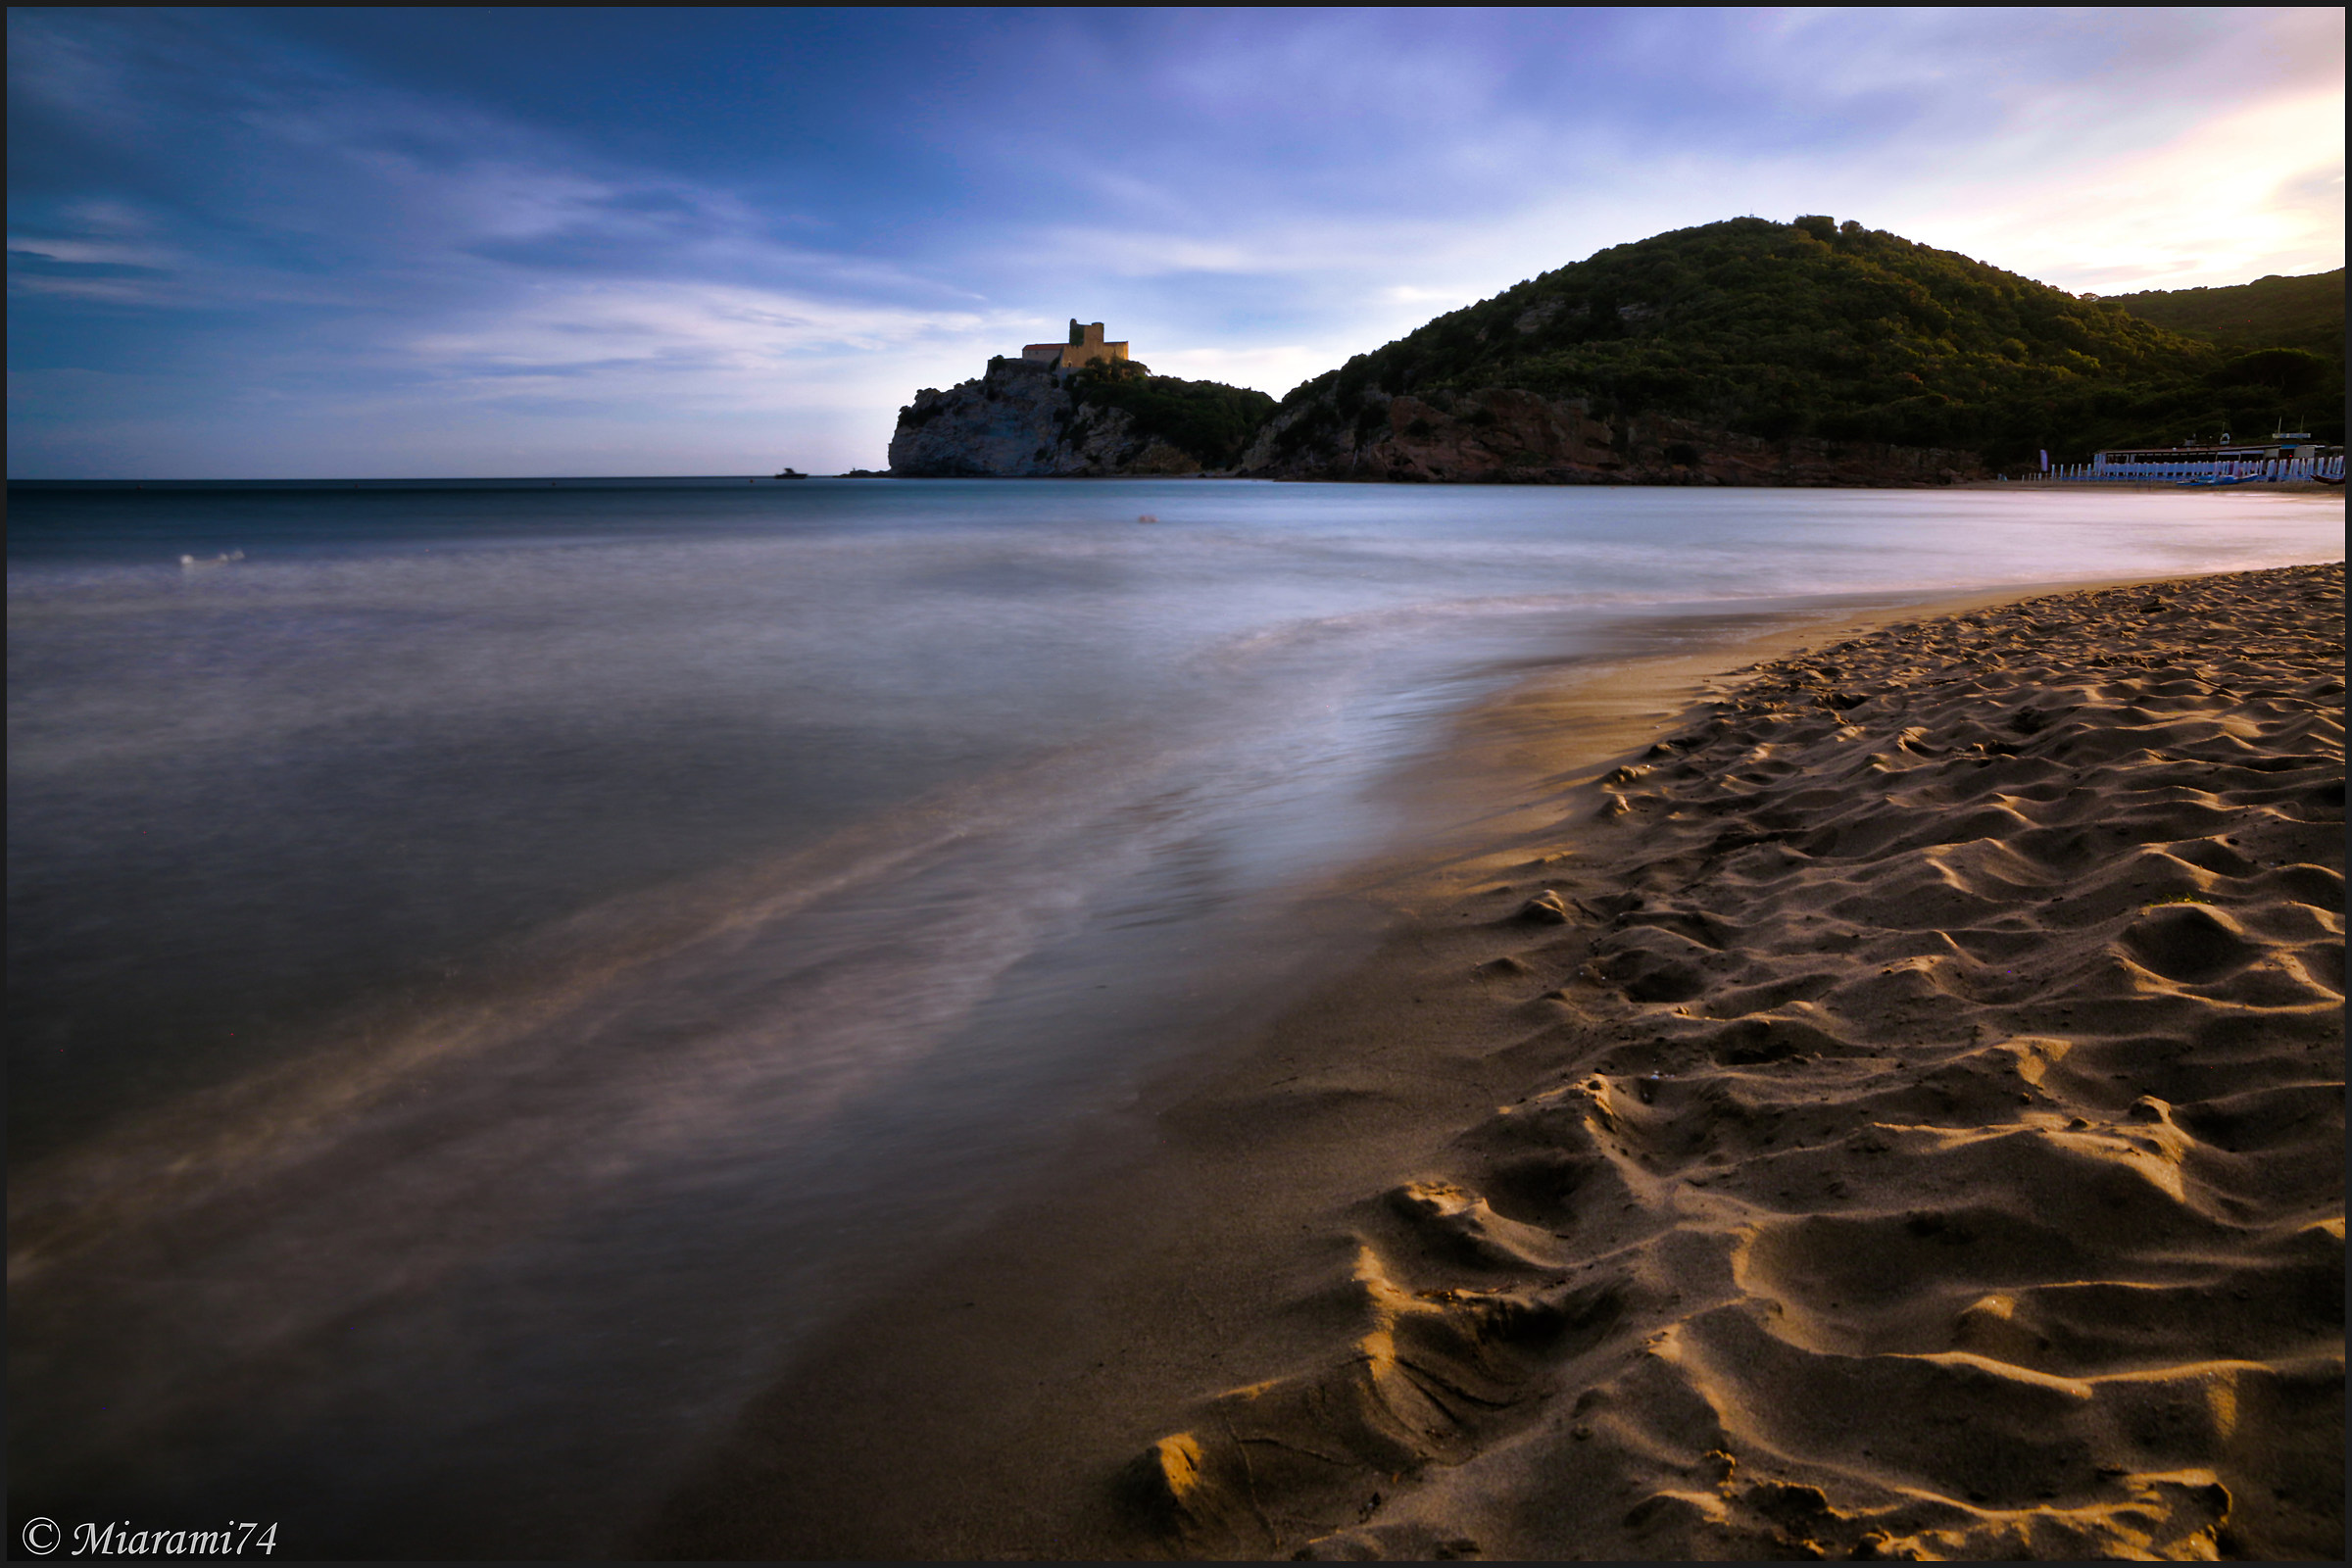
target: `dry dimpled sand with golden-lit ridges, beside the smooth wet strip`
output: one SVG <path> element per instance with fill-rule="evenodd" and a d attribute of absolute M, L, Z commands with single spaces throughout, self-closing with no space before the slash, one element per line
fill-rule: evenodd
<path fill-rule="evenodd" d="M 1138 1549 L 2340 1556 L 2343 625 L 1893 625 L 1564 792 L 1416 983 L 1517 1098 L 1327 1215 Z"/>

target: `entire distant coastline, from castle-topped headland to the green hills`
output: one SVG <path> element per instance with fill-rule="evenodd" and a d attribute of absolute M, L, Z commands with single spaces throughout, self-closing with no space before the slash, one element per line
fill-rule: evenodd
<path fill-rule="evenodd" d="M 1915 489 L 2314 411 L 2340 447 L 2343 315 L 2340 268 L 2103 301 L 1856 221 L 1731 219 L 1439 315 L 1279 402 L 1091 357 L 1127 348 L 1096 322 L 1091 346 L 920 390 L 891 475 Z"/>

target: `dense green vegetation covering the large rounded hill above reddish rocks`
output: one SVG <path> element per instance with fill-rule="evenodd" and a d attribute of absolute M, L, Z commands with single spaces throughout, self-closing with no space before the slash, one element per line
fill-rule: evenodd
<path fill-rule="evenodd" d="M 1371 428 L 1381 393 L 1503 386 L 1588 397 L 1602 418 L 1677 414 L 1990 463 L 2267 433 L 2296 416 L 2343 440 L 2340 348 L 2328 364 L 2298 348 L 2230 353 L 2237 341 L 1853 221 L 1731 219 L 1597 252 L 1357 355 L 1282 400 L 1298 418 L 1279 442 Z"/>

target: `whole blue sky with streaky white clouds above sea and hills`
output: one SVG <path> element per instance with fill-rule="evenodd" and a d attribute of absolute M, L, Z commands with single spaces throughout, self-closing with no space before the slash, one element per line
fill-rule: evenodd
<path fill-rule="evenodd" d="M 1277 397 L 1823 212 L 2117 294 L 2343 266 L 2338 7 L 99 9 L 9 40 L 12 477 L 882 468 L 1061 341 Z"/>

